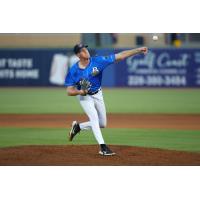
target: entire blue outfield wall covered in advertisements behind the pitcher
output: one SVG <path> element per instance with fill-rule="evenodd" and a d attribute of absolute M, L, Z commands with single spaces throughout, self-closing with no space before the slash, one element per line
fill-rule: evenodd
<path fill-rule="evenodd" d="M 90 49 L 108 55 L 123 49 Z M 0 49 L 0 86 L 63 86 L 72 49 Z M 200 49 L 150 49 L 104 71 L 106 87 L 200 87 Z"/>

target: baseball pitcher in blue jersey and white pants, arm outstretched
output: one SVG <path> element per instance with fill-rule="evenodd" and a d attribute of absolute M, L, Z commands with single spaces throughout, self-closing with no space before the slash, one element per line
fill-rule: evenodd
<path fill-rule="evenodd" d="M 101 89 L 103 70 L 114 62 L 119 62 L 137 54 L 147 54 L 147 47 L 125 50 L 109 56 L 90 57 L 87 45 L 77 44 L 74 46 L 74 53 L 79 58 L 65 78 L 65 86 L 69 96 L 77 96 L 89 121 L 78 123 L 72 122 L 69 132 L 69 140 L 82 130 L 92 130 L 99 146 L 99 154 L 103 156 L 115 155 L 105 144 L 101 128 L 107 124 L 106 109 Z"/>

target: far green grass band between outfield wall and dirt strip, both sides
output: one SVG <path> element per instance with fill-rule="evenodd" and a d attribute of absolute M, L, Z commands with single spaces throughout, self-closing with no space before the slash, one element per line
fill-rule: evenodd
<path fill-rule="evenodd" d="M 104 89 L 108 113 L 200 113 L 199 89 Z M 65 88 L 0 88 L 0 113 L 82 113 Z"/>

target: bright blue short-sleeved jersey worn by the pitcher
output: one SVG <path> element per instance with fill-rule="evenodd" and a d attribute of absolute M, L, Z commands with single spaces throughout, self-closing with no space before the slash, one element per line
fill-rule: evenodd
<path fill-rule="evenodd" d="M 110 64 L 115 62 L 115 55 L 91 57 L 85 69 L 79 68 L 78 62 L 74 64 L 65 78 L 65 86 L 75 86 L 81 89 L 81 79 L 90 81 L 90 92 L 95 92 L 101 87 L 102 72 Z"/>

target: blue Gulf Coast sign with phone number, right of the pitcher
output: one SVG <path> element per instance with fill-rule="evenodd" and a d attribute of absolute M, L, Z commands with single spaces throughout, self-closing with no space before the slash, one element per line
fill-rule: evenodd
<path fill-rule="evenodd" d="M 200 49 L 150 49 L 116 68 L 120 87 L 199 87 Z"/>

